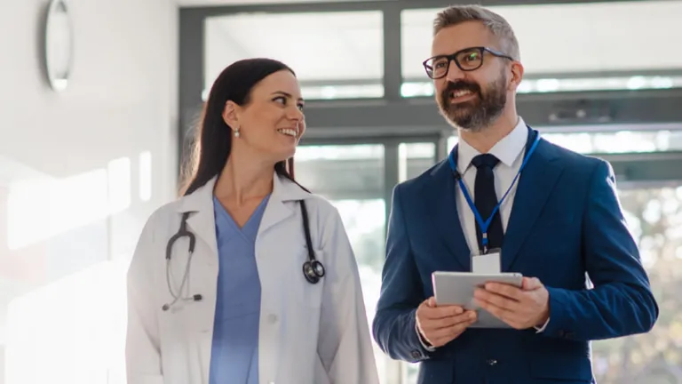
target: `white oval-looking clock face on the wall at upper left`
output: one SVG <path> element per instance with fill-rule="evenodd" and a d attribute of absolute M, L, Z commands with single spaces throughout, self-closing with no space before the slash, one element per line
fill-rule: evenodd
<path fill-rule="evenodd" d="M 73 52 L 71 22 L 64 0 L 52 0 L 45 24 L 45 66 L 55 91 L 67 88 Z"/>

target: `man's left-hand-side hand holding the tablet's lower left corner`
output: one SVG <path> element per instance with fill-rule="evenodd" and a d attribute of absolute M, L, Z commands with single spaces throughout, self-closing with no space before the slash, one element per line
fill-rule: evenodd
<path fill-rule="evenodd" d="M 416 308 L 416 327 L 433 347 L 442 347 L 455 340 L 466 327 L 476 322 L 476 312 L 459 306 L 436 307 L 431 297 Z"/>

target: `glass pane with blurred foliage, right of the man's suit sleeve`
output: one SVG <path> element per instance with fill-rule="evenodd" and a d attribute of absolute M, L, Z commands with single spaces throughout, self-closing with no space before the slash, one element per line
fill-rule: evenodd
<path fill-rule="evenodd" d="M 638 241 L 661 315 L 652 332 L 596 341 L 597 381 L 682 382 L 682 188 L 636 188 L 619 192 L 630 231 Z"/>

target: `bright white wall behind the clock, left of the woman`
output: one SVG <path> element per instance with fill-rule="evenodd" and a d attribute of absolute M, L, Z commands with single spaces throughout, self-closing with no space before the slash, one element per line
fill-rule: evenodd
<path fill-rule="evenodd" d="M 125 268 L 175 194 L 177 5 L 67 4 L 75 62 L 56 93 L 47 0 L 0 1 L 0 384 L 123 382 Z"/>

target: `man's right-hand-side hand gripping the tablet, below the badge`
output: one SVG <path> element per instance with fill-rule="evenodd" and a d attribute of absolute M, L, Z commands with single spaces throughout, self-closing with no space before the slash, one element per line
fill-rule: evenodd
<path fill-rule="evenodd" d="M 473 297 L 481 308 L 518 330 L 543 326 L 550 316 L 550 293 L 535 277 L 524 277 L 521 288 L 488 283 Z"/>

